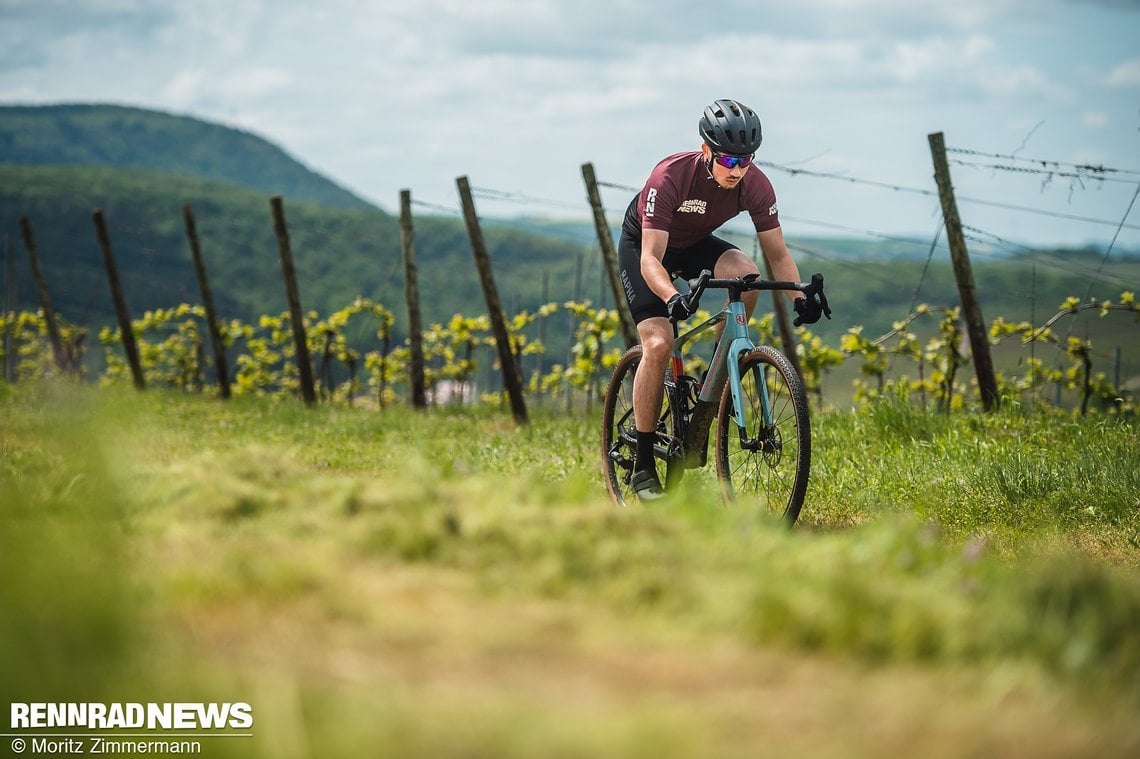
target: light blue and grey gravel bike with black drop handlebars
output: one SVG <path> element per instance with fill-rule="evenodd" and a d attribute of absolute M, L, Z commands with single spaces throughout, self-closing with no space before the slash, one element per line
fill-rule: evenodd
<path fill-rule="evenodd" d="M 830 319 L 823 276 L 814 275 L 809 283 L 769 281 L 756 274 L 714 279 L 712 272 L 705 270 L 689 287 L 692 310 L 707 288 L 726 289 L 728 301 L 720 312 L 683 334 L 673 321 L 673 356 L 666 369 L 653 446 L 658 476 L 668 492 L 686 470 L 703 467 L 715 419 L 716 473 L 725 503 L 747 497 L 781 514 L 789 524 L 795 523 L 812 462 L 807 394 L 783 353 L 752 342 L 741 296 L 749 291 L 799 291 L 814 299 L 821 313 Z M 720 324 L 724 329 L 707 374 L 701 379 L 685 374 L 685 345 Z M 618 506 L 636 500 L 629 482 L 637 448 L 633 386 L 641 358 L 641 345 L 622 354 L 613 368 L 602 408 L 605 487 Z"/>

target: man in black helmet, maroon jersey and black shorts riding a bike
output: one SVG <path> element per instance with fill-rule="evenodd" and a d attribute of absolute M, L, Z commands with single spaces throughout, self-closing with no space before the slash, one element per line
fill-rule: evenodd
<path fill-rule="evenodd" d="M 677 292 L 674 279 L 692 279 L 702 269 L 718 278 L 759 274 L 756 264 L 731 243 L 712 235 L 748 211 L 773 277 L 799 281 L 788 253 L 772 182 L 752 165 L 760 147 L 760 119 L 748 106 L 720 99 L 705 108 L 699 122 L 700 150 L 663 158 L 630 202 L 621 225 L 618 259 L 621 283 L 642 343 L 634 377 L 637 454 L 630 487 L 642 500 L 665 495 L 653 465 L 653 431 L 661 413 L 665 369 L 673 350 L 669 317 L 683 320 L 695 304 Z M 820 319 L 820 307 L 803 293 L 788 292 L 804 324 Z M 746 293 L 751 316 L 758 292 Z"/>

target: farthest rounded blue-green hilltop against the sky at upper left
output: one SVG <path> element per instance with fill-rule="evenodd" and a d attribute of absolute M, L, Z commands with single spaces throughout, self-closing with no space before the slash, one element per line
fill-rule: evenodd
<path fill-rule="evenodd" d="M 0 106 L 0 164 L 144 169 L 333 207 L 369 206 L 260 137 L 123 106 Z"/>

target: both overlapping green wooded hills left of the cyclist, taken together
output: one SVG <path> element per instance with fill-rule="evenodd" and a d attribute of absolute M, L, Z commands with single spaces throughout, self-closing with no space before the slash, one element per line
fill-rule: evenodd
<path fill-rule="evenodd" d="M 190 204 L 219 309 L 255 320 L 285 310 L 269 197 L 282 195 L 306 309 L 365 296 L 406 321 L 396 219 L 316 174 L 278 147 L 206 122 L 120 106 L 0 107 L 0 234 L 14 253 L 11 309 L 39 305 L 19 218 L 35 230 L 52 304 L 66 319 L 114 323 L 91 221 L 103 209 L 133 313 L 198 302 L 181 207 Z M 458 217 L 417 218 L 427 323 L 486 310 Z M 488 225 L 489 253 L 510 310 L 575 296 L 579 239 Z M 586 267 L 583 293 L 598 293 Z M 7 278 L 7 275 L 3 275 Z M 557 285 L 568 285 L 553 292 Z M 7 286 L 7 283 L 6 283 Z"/>

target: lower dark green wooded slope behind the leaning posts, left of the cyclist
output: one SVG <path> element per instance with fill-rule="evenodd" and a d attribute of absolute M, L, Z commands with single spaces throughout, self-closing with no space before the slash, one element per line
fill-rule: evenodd
<path fill-rule="evenodd" d="M 0 232 L 14 251 L 13 310 L 35 310 L 39 300 L 19 218 L 35 232 L 52 305 L 88 326 L 114 324 L 92 210 L 107 221 L 112 247 L 132 313 L 201 301 L 182 220 L 194 211 L 203 258 L 219 309 L 227 318 L 256 320 L 286 309 L 269 196 L 230 185 L 129 169 L 0 166 Z M 329 209 L 284 198 L 290 242 L 307 310 L 327 313 L 360 295 L 406 321 L 398 220 L 376 209 Z M 508 310 L 573 295 L 583 247 L 555 238 L 489 225 L 484 237 Z M 458 219 L 417 219 L 424 319 L 486 312 L 471 245 Z M 597 272 L 592 278 L 597 283 Z M 567 284 L 568 287 L 564 287 Z M 591 293 L 596 293 L 596 284 Z"/>

